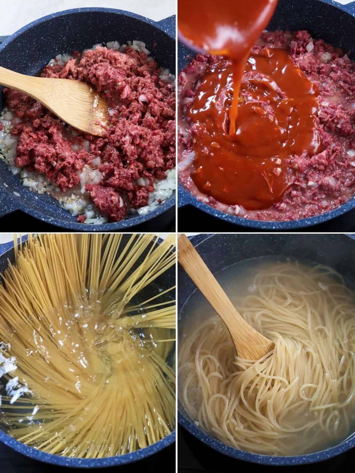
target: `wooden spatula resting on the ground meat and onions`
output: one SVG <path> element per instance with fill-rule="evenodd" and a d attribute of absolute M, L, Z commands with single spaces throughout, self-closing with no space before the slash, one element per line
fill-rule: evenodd
<path fill-rule="evenodd" d="M 0 67 L 0 84 L 25 92 L 77 130 L 102 136 L 107 103 L 85 82 L 19 74 Z"/>

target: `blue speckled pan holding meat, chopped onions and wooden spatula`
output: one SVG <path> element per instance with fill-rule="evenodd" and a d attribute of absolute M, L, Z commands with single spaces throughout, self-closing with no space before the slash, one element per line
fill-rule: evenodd
<path fill-rule="evenodd" d="M 0 65 L 34 75 L 59 53 L 91 48 L 93 44 L 117 40 L 143 41 L 162 67 L 175 73 L 175 16 L 159 22 L 123 10 L 80 8 L 61 11 L 24 26 L 0 44 Z M 154 43 L 156 47 L 153 48 Z M 2 87 L 0 87 L 0 95 Z M 3 102 L 0 98 L 0 110 Z M 3 184 L 8 187 L 4 187 Z M 20 194 L 19 197 L 14 192 Z M 62 209 L 49 195 L 32 193 L 20 184 L 5 163 L 0 162 L 0 217 L 13 210 L 24 212 L 52 225 L 80 231 L 124 230 L 154 219 L 157 230 L 175 215 L 175 195 L 146 215 L 131 215 L 121 222 L 83 225 Z"/>

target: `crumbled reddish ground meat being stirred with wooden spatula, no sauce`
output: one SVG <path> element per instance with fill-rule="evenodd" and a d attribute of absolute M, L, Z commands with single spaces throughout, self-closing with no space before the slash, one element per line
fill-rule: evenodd
<path fill-rule="evenodd" d="M 12 130 L 19 139 L 15 164 L 45 174 L 66 191 L 80 183 L 86 164 L 98 168 L 92 161 L 100 158 L 102 181 L 86 190 L 102 212 L 119 221 L 127 213 L 126 204 L 119 205 L 122 196 L 134 209 L 147 205 L 154 179 L 165 179 L 175 166 L 174 84 L 160 79 L 155 61 L 131 48 L 122 53 L 97 46 L 73 56 L 65 65 L 46 66 L 41 76 L 91 84 L 113 111 L 107 133 L 99 138 L 75 131 L 26 94 L 4 89 L 6 105 L 20 119 Z M 84 140 L 89 151 L 76 150 Z M 138 184 L 140 178 L 146 184 Z"/>

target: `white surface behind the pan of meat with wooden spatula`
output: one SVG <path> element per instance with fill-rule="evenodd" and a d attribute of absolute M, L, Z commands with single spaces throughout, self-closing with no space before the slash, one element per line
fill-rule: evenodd
<path fill-rule="evenodd" d="M 175 15 L 175 0 L 26 0 L 7 2 L 1 9 L 0 36 L 12 35 L 22 26 L 56 11 L 101 7 L 132 11 L 159 21 Z"/>

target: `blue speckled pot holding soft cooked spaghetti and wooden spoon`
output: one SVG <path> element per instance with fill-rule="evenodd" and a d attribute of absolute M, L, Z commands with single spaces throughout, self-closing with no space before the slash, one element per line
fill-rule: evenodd
<path fill-rule="evenodd" d="M 327 264 L 346 279 L 355 282 L 355 234 L 215 234 L 197 235 L 191 239 L 213 274 L 231 264 L 261 256 L 296 257 Z M 196 286 L 178 265 L 177 324 L 184 325 L 181 308 Z M 199 429 L 177 400 L 177 420 L 192 435 L 218 452 L 246 462 L 265 465 L 300 465 L 321 462 L 355 447 L 355 434 L 336 447 L 300 456 L 269 456 L 237 450 Z"/>

